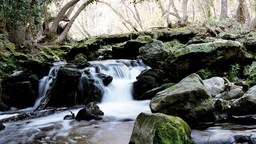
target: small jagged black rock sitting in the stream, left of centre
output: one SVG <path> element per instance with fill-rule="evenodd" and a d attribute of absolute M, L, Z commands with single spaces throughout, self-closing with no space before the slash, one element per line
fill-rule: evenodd
<path fill-rule="evenodd" d="M 91 102 L 85 108 L 79 110 L 76 120 L 101 120 L 101 116 L 103 115 L 104 112 L 94 102 Z"/>

